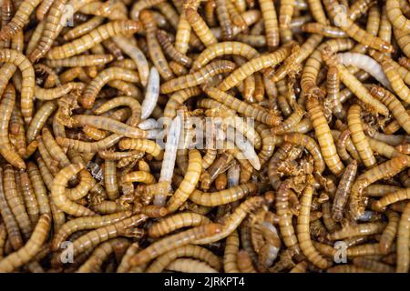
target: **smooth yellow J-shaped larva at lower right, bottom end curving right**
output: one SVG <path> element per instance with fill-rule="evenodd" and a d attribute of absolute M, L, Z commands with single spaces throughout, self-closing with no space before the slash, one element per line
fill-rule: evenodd
<path fill-rule="evenodd" d="M 330 263 L 314 248 L 309 231 L 309 216 L 312 204 L 313 186 L 306 186 L 302 193 L 301 209 L 298 216 L 297 234 L 299 246 L 307 258 L 321 269 L 326 269 Z"/>

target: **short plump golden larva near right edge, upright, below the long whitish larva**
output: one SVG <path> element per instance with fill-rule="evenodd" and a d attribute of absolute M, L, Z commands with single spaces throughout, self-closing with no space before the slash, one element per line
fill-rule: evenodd
<path fill-rule="evenodd" d="M 376 163 L 373 151 L 369 145 L 367 137 L 364 135 L 364 128 L 361 120 L 362 108 L 360 105 L 354 104 L 349 108 L 347 114 L 347 124 L 352 133 L 352 140 L 356 146 L 359 155 L 364 162 L 364 166 L 374 166 Z"/>

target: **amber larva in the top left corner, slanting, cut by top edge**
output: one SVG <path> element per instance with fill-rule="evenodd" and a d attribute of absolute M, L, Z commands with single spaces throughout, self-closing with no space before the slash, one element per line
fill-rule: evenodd
<path fill-rule="evenodd" d="M 0 40 L 12 38 L 16 33 L 21 31 L 30 20 L 30 15 L 36 9 L 36 6 L 41 3 L 40 0 L 25 0 L 18 6 L 12 20 L 2 27 L 0 31 Z"/>

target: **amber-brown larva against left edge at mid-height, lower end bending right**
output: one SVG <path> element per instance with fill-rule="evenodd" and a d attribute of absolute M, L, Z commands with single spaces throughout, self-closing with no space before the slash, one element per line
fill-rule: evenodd
<path fill-rule="evenodd" d="M 26 163 L 12 149 L 8 137 L 8 126 L 14 106 L 15 88 L 13 85 L 7 85 L 0 103 L 0 155 L 13 166 L 24 169 L 26 168 Z"/>

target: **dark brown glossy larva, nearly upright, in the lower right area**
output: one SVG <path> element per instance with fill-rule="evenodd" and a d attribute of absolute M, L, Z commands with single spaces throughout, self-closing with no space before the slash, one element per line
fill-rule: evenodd
<path fill-rule="evenodd" d="M 340 222 L 343 218 L 343 208 L 349 197 L 348 195 L 354 183 L 356 172 L 357 161 L 353 160 L 353 162 L 345 167 L 333 198 L 332 218 L 334 221 Z"/>

